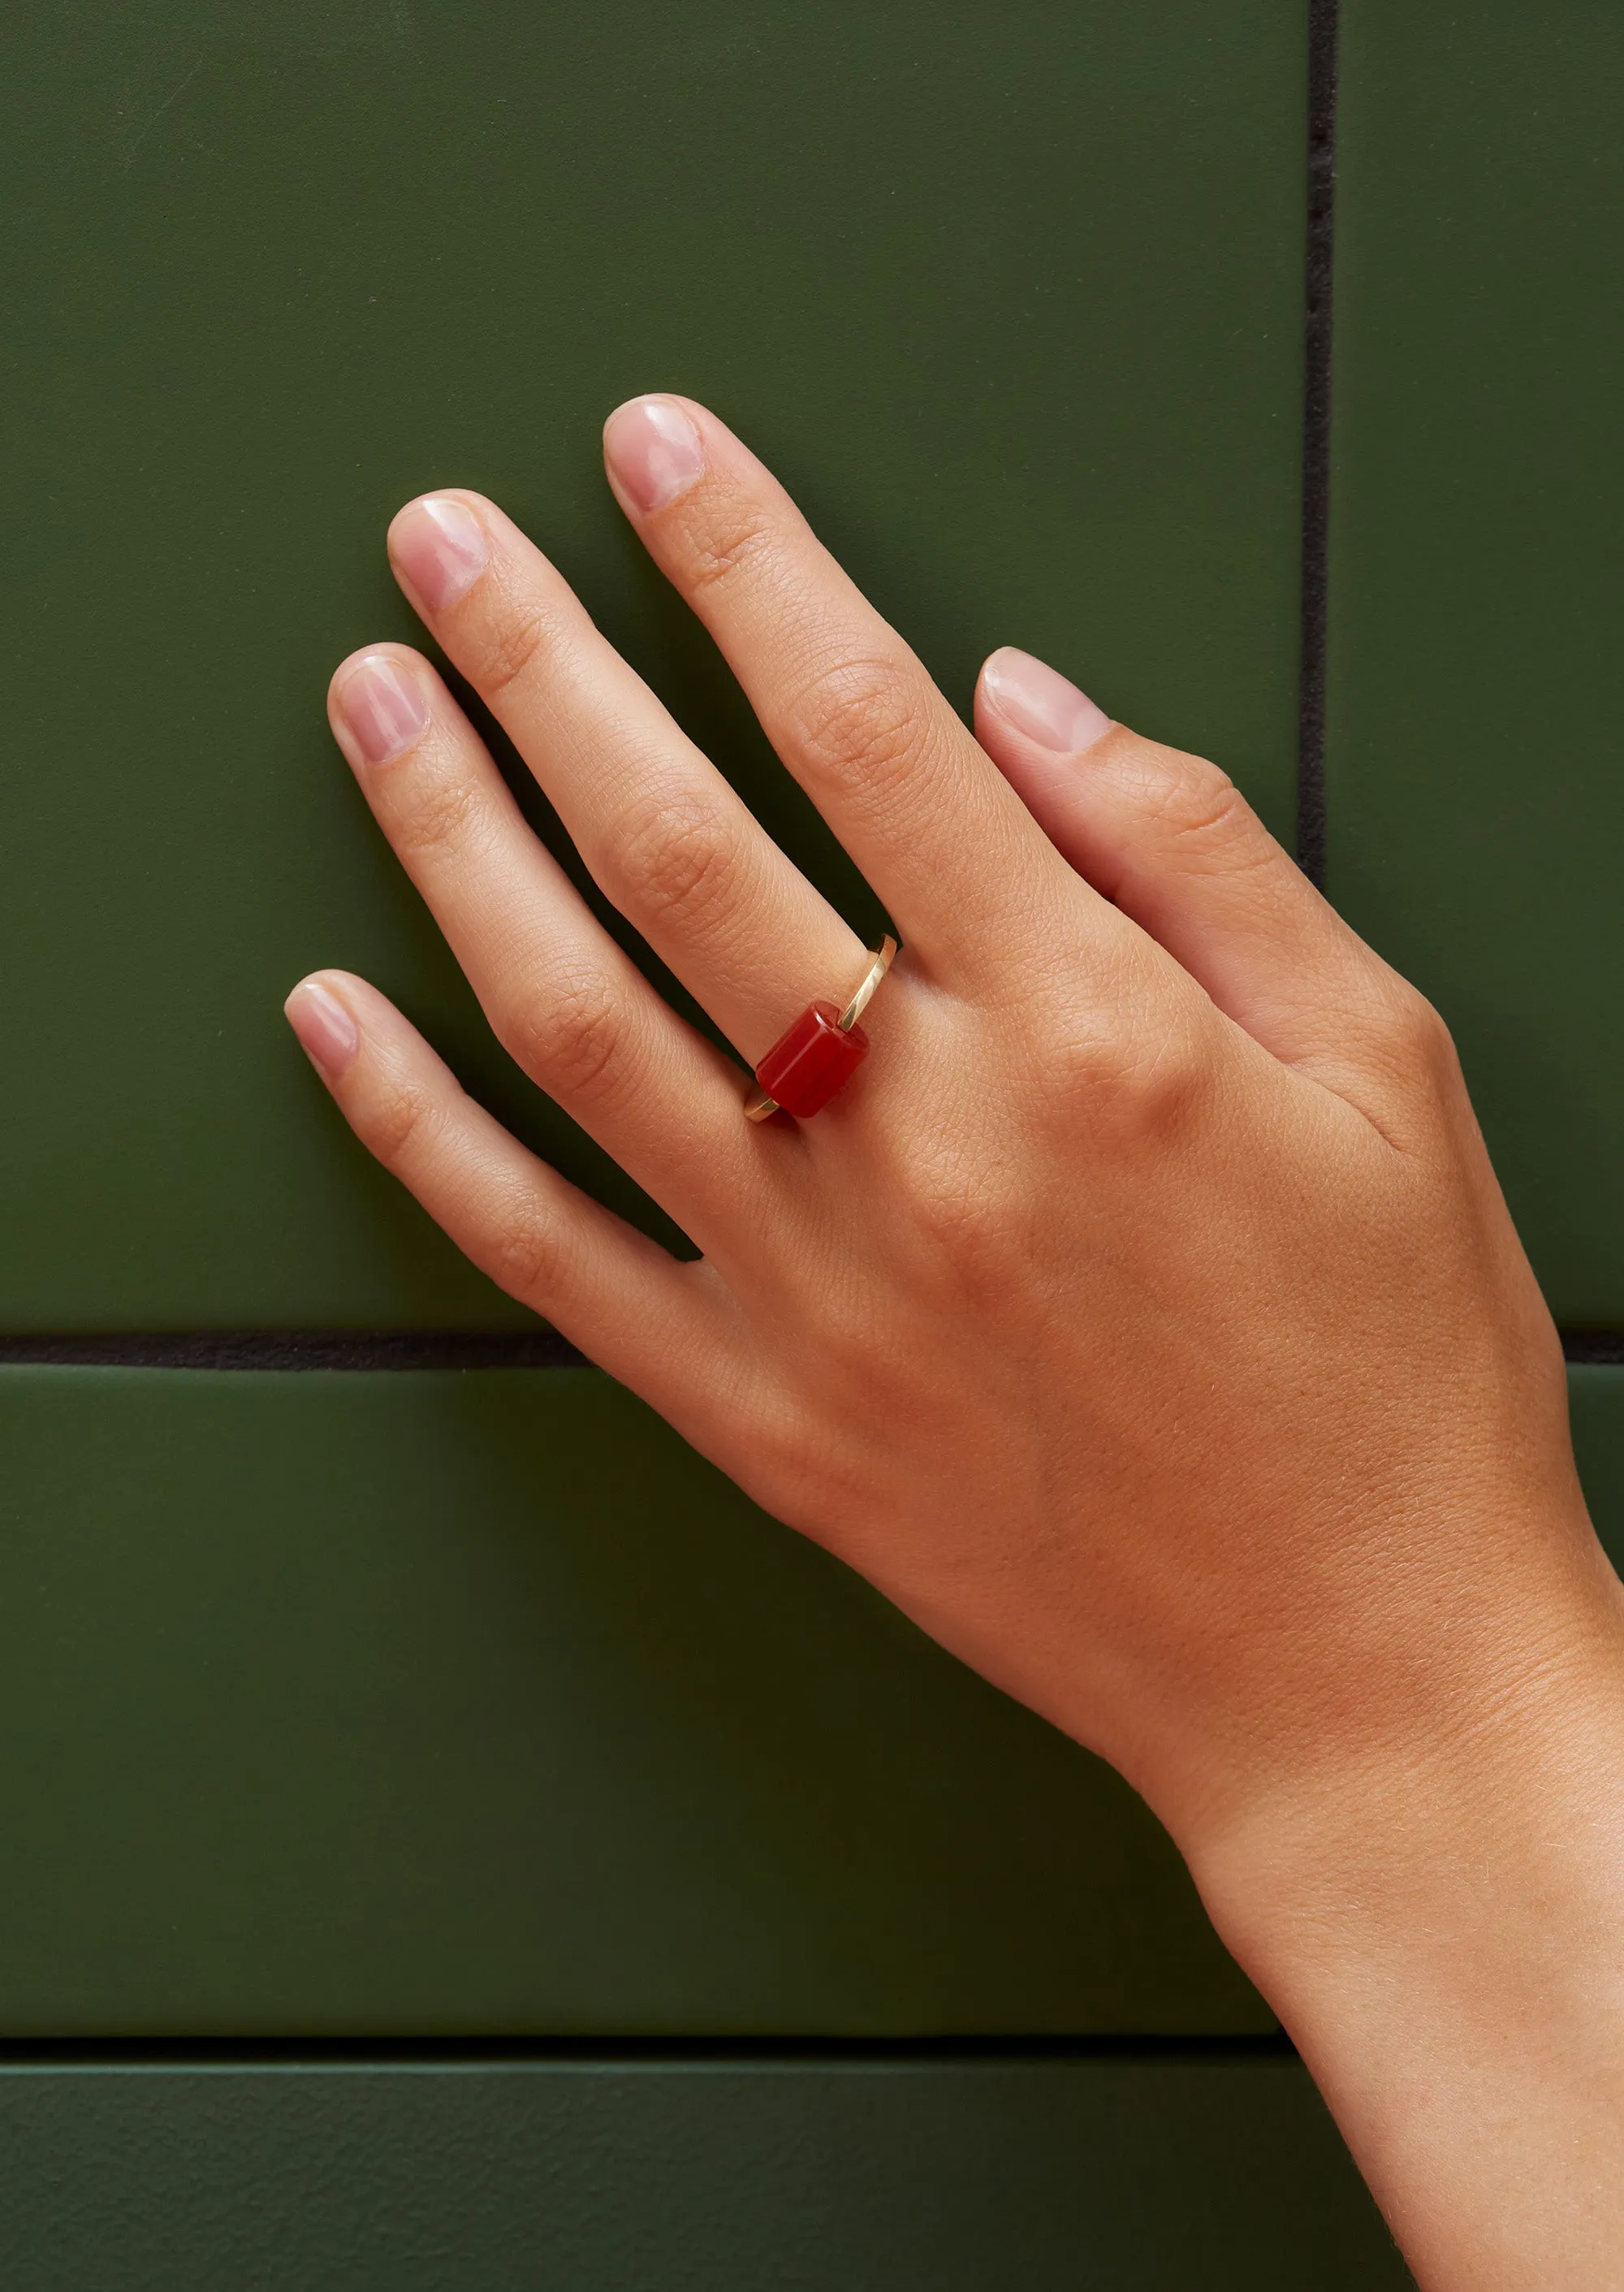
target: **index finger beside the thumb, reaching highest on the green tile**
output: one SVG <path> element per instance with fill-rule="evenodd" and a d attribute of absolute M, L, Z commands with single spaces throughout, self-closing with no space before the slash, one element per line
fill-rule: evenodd
<path fill-rule="evenodd" d="M 1028 926 L 1044 880 L 1056 898 L 1072 894 L 919 656 L 715 415 L 692 399 L 630 399 L 605 424 L 605 463 L 907 947 L 953 963 L 1015 917 Z"/>

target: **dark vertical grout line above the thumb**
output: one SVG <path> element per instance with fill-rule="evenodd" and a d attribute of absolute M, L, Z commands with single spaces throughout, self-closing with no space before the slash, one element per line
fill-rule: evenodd
<path fill-rule="evenodd" d="M 1303 630 L 1296 699 L 1296 862 L 1326 880 L 1326 628 L 1331 536 L 1331 254 L 1338 0 L 1308 0 L 1308 243 L 1303 259 Z"/>

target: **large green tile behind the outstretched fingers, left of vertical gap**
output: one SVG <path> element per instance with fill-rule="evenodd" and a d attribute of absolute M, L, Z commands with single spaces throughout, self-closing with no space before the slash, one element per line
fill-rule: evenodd
<path fill-rule="evenodd" d="M 483 486 L 854 919 L 621 527 L 710 399 L 969 704 L 1033 646 L 1290 832 L 1303 21 L 1274 0 L 98 0 L 0 28 L 0 1327 L 502 1325 L 286 1038 L 366 972 L 506 1070 L 330 749 Z"/>

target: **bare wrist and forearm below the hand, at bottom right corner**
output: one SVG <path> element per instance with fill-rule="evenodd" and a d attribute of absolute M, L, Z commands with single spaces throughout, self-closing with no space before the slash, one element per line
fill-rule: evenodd
<path fill-rule="evenodd" d="M 1624 1630 L 1209 1895 L 1425 2292 L 1624 2287 Z"/>

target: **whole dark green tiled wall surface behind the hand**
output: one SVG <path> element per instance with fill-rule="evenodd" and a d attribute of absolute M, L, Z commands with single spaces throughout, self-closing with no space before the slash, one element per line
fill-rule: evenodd
<path fill-rule="evenodd" d="M 1342 9 L 1329 887 L 1624 1322 L 1617 11 Z M 962 704 L 1292 830 L 1306 25 L 1264 0 L 105 0 L 0 25 L 0 1332 L 522 1327 L 282 1031 L 376 976 L 570 1174 L 321 722 L 513 507 L 854 919 L 596 472 L 710 397 Z M 511 759 L 506 759 L 511 763 Z M 538 825 L 550 832 L 541 807 Z M 1624 1371 L 1571 1373 L 1624 1559 Z M 21 2292 L 1404 2283 L 1296 2063 L 94 2063 L 98 2040 L 1267 2033 L 1145 1808 L 593 1373 L 0 1371 Z"/>

